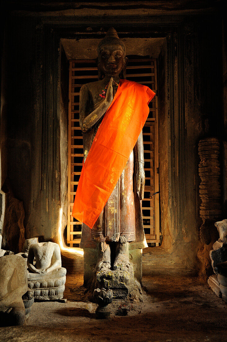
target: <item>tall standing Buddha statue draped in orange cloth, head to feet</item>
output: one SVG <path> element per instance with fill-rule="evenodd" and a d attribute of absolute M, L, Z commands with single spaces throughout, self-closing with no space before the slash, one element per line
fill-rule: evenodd
<path fill-rule="evenodd" d="M 99 81 L 84 84 L 80 91 L 84 166 L 72 215 L 83 222 L 80 247 L 98 248 L 96 270 L 124 271 L 129 267 L 129 249 L 147 247 L 141 210 L 145 185 L 142 127 L 155 93 L 126 80 L 125 44 L 114 28 L 97 50 Z M 119 121 L 118 110 L 121 113 L 123 107 Z M 134 142 L 130 132 L 136 137 Z M 93 186 L 99 176 L 100 182 Z"/>

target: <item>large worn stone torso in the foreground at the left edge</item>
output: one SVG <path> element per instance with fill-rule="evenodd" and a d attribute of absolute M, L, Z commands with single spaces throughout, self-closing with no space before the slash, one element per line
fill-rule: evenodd
<path fill-rule="evenodd" d="M 0 326 L 22 325 L 22 296 L 28 290 L 26 261 L 18 255 L 4 255 L 0 258 L 0 274 Z"/>

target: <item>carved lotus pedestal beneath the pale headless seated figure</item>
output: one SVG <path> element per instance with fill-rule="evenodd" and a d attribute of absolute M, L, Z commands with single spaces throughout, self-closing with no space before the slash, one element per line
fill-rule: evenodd
<path fill-rule="evenodd" d="M 30 278 L 29 276 L 33 276 Z M 36 277 L 35 277 L 36 276 Z M 62 299 L 65 291 L 66 268 L 61 267 L 43 276 L 37 274 L 28 275 L 28 287 L 34 293 L 36 300 Z"/>

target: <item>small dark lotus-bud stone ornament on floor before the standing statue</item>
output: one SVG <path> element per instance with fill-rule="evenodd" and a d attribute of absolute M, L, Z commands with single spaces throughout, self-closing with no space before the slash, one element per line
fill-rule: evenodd
<path fill-rule="evenodd" d="M 110 289 L 106 290 L 104 288 L 101 290 L 99 288 L 94 290 L 94 301 L 98 304 L 95 311 L 95 317 L 100 319 L 110 318 L 110 309 L 108 304 L 113 301 L 113 291 Z"/>

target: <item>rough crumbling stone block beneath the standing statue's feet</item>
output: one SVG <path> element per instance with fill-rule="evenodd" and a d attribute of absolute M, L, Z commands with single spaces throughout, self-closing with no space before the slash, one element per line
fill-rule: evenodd
<path fill-rule="evenodd" d="M 132 267 L 129 271 L 98 271 L 94 273 L 92 289 L 109 288 L 115 299 L 136 299 L 142 301 L 142 290 L 138 281 L 134 280 Z"/>

